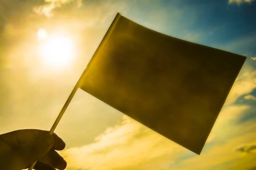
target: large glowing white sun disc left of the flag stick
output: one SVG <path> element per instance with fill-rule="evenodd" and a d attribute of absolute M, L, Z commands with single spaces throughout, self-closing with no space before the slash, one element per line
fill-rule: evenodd
<path fill-rule="evenodd" d="M 44 37 L 42 35 L 44 34 L 39 36 L 40 39 Z M 51 35 L 41 42 L 38 52 L 42 62 L 47 67 L 59 68 L 69 65 L 76 51 L 72 38 L 63 35 Z"/>

